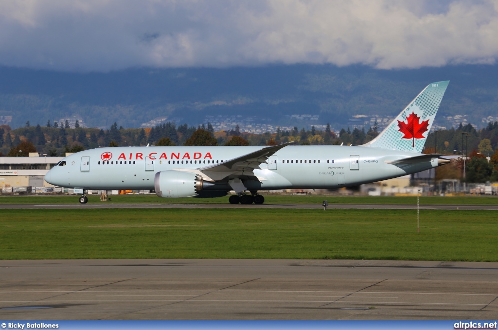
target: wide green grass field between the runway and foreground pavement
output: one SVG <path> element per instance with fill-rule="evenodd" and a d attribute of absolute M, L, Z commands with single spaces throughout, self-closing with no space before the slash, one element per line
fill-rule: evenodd
<path fill-rule="evenodd" d="M 74 197 L 73 197 L 74 198 Z M 495 211 L 1 210 L 0 259 L 498 261 Z"/>

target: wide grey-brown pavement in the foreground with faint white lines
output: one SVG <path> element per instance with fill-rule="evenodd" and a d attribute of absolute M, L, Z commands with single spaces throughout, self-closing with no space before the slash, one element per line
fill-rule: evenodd
<path fill-rule="evenodd" d="M 497 320 L 498 263 L 3 260 L 3 320 Z"/>

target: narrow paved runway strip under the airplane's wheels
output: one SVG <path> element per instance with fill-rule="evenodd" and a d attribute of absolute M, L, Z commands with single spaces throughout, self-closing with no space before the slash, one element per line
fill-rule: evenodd
<path fill-rule="evenodd" d="M 412 204 L 329 204 L 328 209 L 403 209 Z M 0 204 L 0 209 L 323 209 L 321 204 Z M 420 210 L 498 210 L 498 205 L 421 205 Z"/>

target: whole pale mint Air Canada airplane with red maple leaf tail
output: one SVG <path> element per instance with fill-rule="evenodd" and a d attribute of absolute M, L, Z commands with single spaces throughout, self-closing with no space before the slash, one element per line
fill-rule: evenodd
<path fill-rule="evenodd" d="M 449 81 L 429 84 L 372 141 L 359 145 L 105 147 L 63 158 L 45 175 L 59 187 L 155 190 L 162 198 L 262 204 L 262 190 L 334 189 L 412 174 L 450 162 L 422 154 Z M 246 193 L 249 192 L 249 193 Z"/>

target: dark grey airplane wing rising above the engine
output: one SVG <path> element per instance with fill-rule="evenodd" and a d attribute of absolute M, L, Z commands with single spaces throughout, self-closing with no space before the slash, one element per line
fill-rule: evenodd
<path fill-rule="evenodd" d="M 251 179 L 257 181 L 258 179 L 254 175 L 253 170 L 260 169 L 259 165 L 267 164 L 268 157 L 283 147 L 293 143 L 294 142 L 287 142 L 275 146 L 265 147 L 220 164 L 201 167 L 198 171 L 213 181 L 231 179 Z"/>

